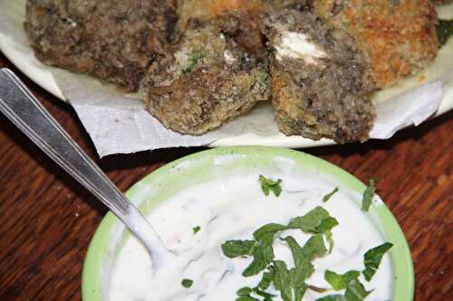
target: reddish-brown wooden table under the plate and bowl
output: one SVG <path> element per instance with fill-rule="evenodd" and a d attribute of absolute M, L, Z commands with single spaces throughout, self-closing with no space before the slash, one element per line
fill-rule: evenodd
<path fill-rule="evenodd" d="M 177 148 L 99 159 L 69 105 L 37 87 L 0 54 L 122 191 L 181 156 Z M 390 141 L 305 149 L 378 192 L 410 244 L 416 300 L 453 296 L 453 112 Z M 0 300 L 80 300 L 82 264 L 106 210 L 0 116 Z M 398 301 L 398 300 L 393 300 Z"/>

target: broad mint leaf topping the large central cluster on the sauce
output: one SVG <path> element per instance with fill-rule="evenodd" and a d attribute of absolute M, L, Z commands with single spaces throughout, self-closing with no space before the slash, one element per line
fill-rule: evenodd
<path fill-rule="evenodd" d="M 312 233 L 322 233 L 326 230 L 331 230 L 336 225 L 338 225 L 338 221 L 320 206 L 304 216 L 296 217 L 289 223 L 290 228 L 299 228 Z"/>

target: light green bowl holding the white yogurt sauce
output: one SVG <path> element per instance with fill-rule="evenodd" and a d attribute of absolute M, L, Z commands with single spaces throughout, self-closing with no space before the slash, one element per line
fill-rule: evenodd
<path fill-rule="evenodd" d="M 352 191 L 363 193 L 366 186 L 357 178 L 313 155 L 301 152 L 262 146 L 237 146 L 210 149 L 188 155 L 160 167 L 126 193 L 131 202 L 147 215 L 160 202 L 172 195 L 199 183 L 235 174 L 237 171 L 270 171 L 276 168 L 275 158 L 291 160 L 301 170 L 315 170 L 329 174 L 338 183 Z M 282 160 L 279 160 L 280 162 Z M 169 189 L 169 187 L 171 189 Z M 392 300 L 412 301 L 414 294 L 414 272 L 410 249 L 400 225 L 382 202 L 373 202 L 370 219 L 384 240 L 393 243 L 390 249 L 394 277 Z M 109 212 L 96 230 L 83 265 L 82 299 L 84 301 L 106 300 L 111 268 L 114 259 L 130 232 Z"/>

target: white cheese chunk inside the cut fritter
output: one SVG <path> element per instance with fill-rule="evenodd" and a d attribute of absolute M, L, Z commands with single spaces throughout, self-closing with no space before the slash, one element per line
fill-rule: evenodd
<path fill-rule="evenodd" d="M 284 32 L 282 42 L 275 45 L 276 58 L 302 59 L 306 63 L 317 64 L 315 59 L 325 58 L 327 54 L 320 50 L 313 42 L 308 42 L 308 36 L 304 33 Z"/>

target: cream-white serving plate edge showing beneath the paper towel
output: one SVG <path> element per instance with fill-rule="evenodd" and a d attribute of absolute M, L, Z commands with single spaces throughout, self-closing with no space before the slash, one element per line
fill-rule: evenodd
<path fill-rule="evenodd" d="M 8 5 L 19 7 L 19 2 L 17 3 L 8 3 L 7 0 L 0 0 L 0 6 Z M 15 14 L 13 18 L 24 20 L 24 9 L 14 9 L 12 10 Z M 441 18 L 452 18 L 453 17 L 453 4 L 443 5 L 438 7 L 439 17 Z M 0 12 L 0 14 L 2 14 Z M 1 20 L 0 20 L 1 21 Z M 0 24 L 1 26 L 2 24 Z M 2 33 L 0 33 L 2 34 Z M 450 39 L 451 40 L 451 39 Z M 451 41 L 450 41 L 451 42 Z M 14 41 L 9 37 L 4 37 L 0 39 L 0 51 L 2 51 L 5 56 L 10 60 L 20 71 L 22 71 L 26 76 L 31 80 L 34 80 L 36 84 L 41 86 L 43 89 L 52 93 L 56 98 L 62 99 L 65 101 L 63 92 L 58 88 L 54 78 L 53 73 L 50 71 L 50 68 L 43 65 L 40 61 L 37 61 L 34 58 L 34 53 L 31 47 L 21 49 L 20 52 L 16 49 L 17 45 L 14 45 Z M 452 42 L 452 52 L 453 52 L 453 42 Z M 451 63 L 451 69 L 453 69 L 453 61 Z M 431 72 L 432 73 L 432 72 Z M 395 89 L 395 92 L 398 93 L 398 89 Z M 393 92 L 392 94 L 395 94 Z M 442 103 L 437 111 L 436 117 L 444 114 L 448 110 L 453 108 L 453 87 L 448 89 Z M 304 138 L 302 136 L 284 136 L 284 134 L 279 133 L 273 136 L 258 136 L 251 133 L 245 133 L 238 136 L 232 136 L 227 138 L 220 138 L 209 146 L 218 147 L 218 146 L 280 146 L 280 147 L 292 147 L 292 148 L 303 148 L 303 147 L 313 147 L 313 146 L 328 146 L 334 145 L 335 142 L 330 139 L 321 139 L 314 141 L 312 139 Z"/>

